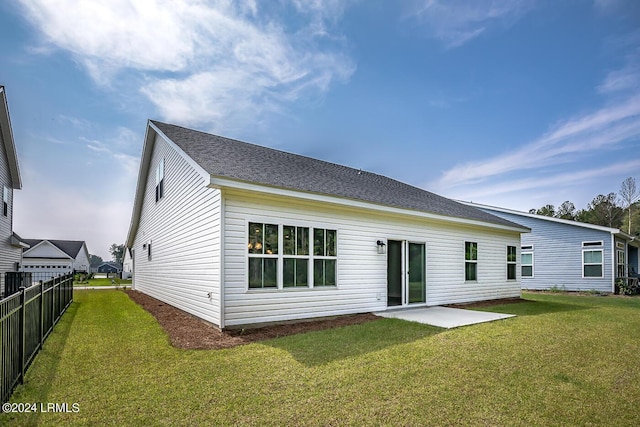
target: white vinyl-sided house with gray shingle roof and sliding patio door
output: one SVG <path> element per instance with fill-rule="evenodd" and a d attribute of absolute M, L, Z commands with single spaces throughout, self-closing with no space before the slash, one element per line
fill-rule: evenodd
<path fill-rule="evenodd" d="M 147 126 L 133 288 L 221 328 L 520 295 L 529 229 L 396 180 Z"/>

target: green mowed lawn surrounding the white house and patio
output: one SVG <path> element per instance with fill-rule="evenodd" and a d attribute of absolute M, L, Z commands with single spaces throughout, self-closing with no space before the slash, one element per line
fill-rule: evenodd
<path fill-rule="evenodd" d="M 638 425 L 640 298 L 524 296 L 454 330 L 381 319 L 205 351 L 121 291 L 76 291 L 12 401 L 79 412 L 0 425 Z"/>

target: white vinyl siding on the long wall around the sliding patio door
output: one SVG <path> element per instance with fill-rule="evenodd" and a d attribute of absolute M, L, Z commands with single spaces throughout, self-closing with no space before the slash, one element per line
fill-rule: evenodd
<path fill-rule="evenodd" d="M 328 203 L 224 190 L 225 325 L 333 316 L 387 309 L 387 257 L 376 242 L 425 242 L 428 305 L 518 297 L 507 281 L 505 246 L 519 245 L 516 232 L 450 225 L 411 216 L 386 215 Z M 247 288 L 247 224 L 295 225 L 336 230 L 336 286 Z M 478 243 L 478 280 L 465 283 L 465 240 Z M 329 257 L 330 255 L 326 255 Z M 137 265 L 137 264 L 136 264 Z M 519 274 L 518 274 L 519 279 Z"/>

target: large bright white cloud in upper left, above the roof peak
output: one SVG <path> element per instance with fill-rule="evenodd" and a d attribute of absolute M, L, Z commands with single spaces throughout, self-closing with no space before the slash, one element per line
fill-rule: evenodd
<path fill-rule="evenodd" d="M 95 82 L 142 82 L 163 119 L 182 124 L 246 125 L 323 94 L 355 70 L 330 30 L 345 7 L 338 0 L 292 0 L 293 8 L 225 0 L 20 1 L 46 43 L 71 52 Z"/>

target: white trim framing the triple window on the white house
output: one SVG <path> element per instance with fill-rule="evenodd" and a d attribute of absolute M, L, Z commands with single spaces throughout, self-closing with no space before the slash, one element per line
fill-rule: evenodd
<path fill-rule="evenodd" d="M 337 289 L 339 288 L 338 278 L 340 277 L 339 271 L 339 262 L 338 262 L 338 242 L 340 231 L 335 225 L 326 225 L 321 223 L 309 223 L 302 221 L 286 221 L 283 219 L 274 219 L 274 218 L 258 218 L 251 217 L 245 220 L 244 224 L 244 241 L 246 243 L 247 232 L 249 230 L 249 223 L 259 223 L 259 224 L 271 224 L 278 226 L 278 253 L 273 255 L 268 254 L 250 254 L 247 251 L 246 244 L 243 245 L 245 250 L 245 265 L 244 265 L 244 283 L 245 283 L 245 292 L 246 293 L 260 293 L 260 292 L 305 292 L 312 289 L 317 290 L 327 290 L 327 289 Z M 284 254 L 284 226 L 290 227 L 298 227 L 298 228 L 308 228 L 309 229 L 309 255 L 285 255 Z M 314 255 L 313 253 L 313 230 L 314 229 L 322 229 L 322 230 L 335 230 L 336 232 L 336 256 L 320 256 Z M 270 288 L 250 288 L 249 287 L 249 258 L 275 258 L 277 259 L 277 273 L 276 273 L 276 287 Z M 307 286 L 284 286 L 284 258 L 298 258 L 298 259 L 308 259 L 309 271 L 307 273 L 308 285 Z M 314 284 L 314 270 L 313 270 L 313 262 L 315 259 L 333 259 L 336 261 L 336 284 L 329 286 L 315 286 Z"/>

